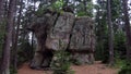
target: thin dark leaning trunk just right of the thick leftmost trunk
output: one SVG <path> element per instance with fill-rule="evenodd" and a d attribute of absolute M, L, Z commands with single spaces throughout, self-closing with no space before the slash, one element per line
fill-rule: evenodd
<path fill-rule="evenodd" d="M 17 40 L 19 40 L 19 32 L 20 32 L 20 25 L 21 25 L 21 16 L 22 16 L 22 3 L 23 0 L 20 0 L 20 10 L 19 10 L 19 16 L 17 16 L 17 25 L 16 25 L 16 33 L 15 33 L 15 40 L 13 44 L 13 67 L 14 70 L 17 70 Z"/>

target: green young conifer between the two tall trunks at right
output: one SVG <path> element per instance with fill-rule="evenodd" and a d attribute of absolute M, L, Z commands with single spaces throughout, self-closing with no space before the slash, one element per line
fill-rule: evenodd
<path fill-rule="evenodd" d="M 115 66 L 122 69 L 126 66 L 126 36 L 122 30 L 115 34 Z"/>

